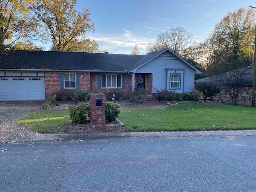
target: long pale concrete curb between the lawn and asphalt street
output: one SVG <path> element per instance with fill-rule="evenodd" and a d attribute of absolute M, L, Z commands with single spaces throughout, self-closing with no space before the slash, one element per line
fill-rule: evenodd
<path fill-rule="evenodd" d="M 237 131 L 194 131 L 194 132 L 123 132 L 98 134 L 41 134 L 36 138 L 9 140 L 10 142 L 40 142 L 57 140 L 107 140 L 107 139 L 148 139 L 148 138 L 225 138 L 256 136 L 256 130 Z"/>

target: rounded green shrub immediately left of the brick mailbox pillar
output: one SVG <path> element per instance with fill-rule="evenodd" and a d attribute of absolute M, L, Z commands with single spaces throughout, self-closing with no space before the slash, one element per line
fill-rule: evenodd
<path fill-rule="evenodd" d="M 70 119 L 75 123 L 84 123 L 90 120 L 90 104 L 81 103 L 69 107 Z"/>

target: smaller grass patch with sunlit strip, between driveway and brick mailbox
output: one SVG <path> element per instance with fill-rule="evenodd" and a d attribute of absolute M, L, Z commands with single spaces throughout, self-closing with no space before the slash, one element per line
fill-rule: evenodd
<path fill-rule="evenodd" d="M 36 111 L 17 122 L 39 133 L 68 132 L 69 111 Z"/>

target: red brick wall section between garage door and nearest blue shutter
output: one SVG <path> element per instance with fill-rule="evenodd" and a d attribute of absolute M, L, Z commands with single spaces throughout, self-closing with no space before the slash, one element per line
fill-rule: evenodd
<path fill-rule="evenodd" d="M 54 93 L 60 90 L 60 73 L 47 72 L 44 76 L 46 99 L 54 98 Z"/>

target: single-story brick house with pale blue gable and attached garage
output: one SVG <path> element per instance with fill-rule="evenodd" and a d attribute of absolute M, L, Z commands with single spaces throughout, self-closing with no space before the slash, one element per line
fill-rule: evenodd
<path fill-rule="evenodd" d="M 0 56 L 0 100 L 44 100 L 64 89 L 193 92 L 199 73 L 168 48 L 147 55 L 15 51 Z"/>

